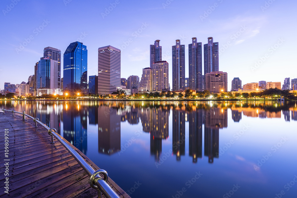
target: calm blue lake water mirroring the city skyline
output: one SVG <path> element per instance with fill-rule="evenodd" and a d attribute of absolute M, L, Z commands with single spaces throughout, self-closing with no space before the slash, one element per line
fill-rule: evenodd
<path fill-rule="evenodd" d="M 56 128 L 131 197 L 297 197 L 296 102 L 0 101 L 0 108 Z"/>

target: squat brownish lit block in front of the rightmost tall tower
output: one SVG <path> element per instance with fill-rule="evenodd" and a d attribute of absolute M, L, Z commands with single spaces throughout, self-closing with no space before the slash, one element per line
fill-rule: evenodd
<path fill-rule="evenodd" d="M 205 91 L 211 93 L 220 93 L 228 91 L 228 74 L 227 72 L 210 72 L 204 75 Z"/>

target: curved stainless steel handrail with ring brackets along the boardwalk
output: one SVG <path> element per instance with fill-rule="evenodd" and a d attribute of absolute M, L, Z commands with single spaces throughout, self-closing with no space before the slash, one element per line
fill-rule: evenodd
<path fill-rule="evenodd" d="M 62 136 L 57 134 L 55 128 L 49 128 L 46 126 L 44 123 L 40 122 L 38 118 L 33 118 L 32 116 L 26 114 L 25 111 L 23 113 L 14 111 L 14 110 L 6 110 L 6 109 L 1 109 L 3 113 L 5 111 L 12 112 L 14 115 L 15 113 L 22 114 L 23 115 L 23 120 L 26 120 L 26 116 L 30 119 L 32 119 L 36 124 L 35 127 L 37 127 L 37 123 L 39 123 L 41 126 L 43 126 L 45 129 L 48 130 L 48 134 L 52 137 L 52 141 L 50 143 L 55 143 L 53 141 L 53 136 L 59 140 L 59 142 L 69 151 L 69 153 L 74 157 L 74 159 L 80 164 L 80 166 L 83 168 L 84 171 L 89 175 L 89 183 L 90 186 L 94 189 L 98 190 L 98 197 L 101 197 L 101 192 L 108 198 L 119 198 L 119 195 L 108 185 L 107 180 L 108 180 L 108 174 L 105 170 L 94 170 L 83 157 L 72 148 L 72 145 L 65 140 Z M 104 178 L 102 178 L 99 174 L 104 175 Z"/>

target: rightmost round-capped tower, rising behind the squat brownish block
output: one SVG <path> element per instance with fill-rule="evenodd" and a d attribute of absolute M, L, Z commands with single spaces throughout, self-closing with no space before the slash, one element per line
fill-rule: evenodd
<path fill-rule="evenodd" d="M 207 38 L 204 44 L 204 75 L 219 71 L 219 42 L 214 42 L 212 37 Z"/>

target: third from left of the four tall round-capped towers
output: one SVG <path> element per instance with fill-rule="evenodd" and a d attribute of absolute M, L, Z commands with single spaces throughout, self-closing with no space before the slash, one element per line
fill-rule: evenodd
<path fill-rule="evenodd" d="M 189 44 L 189 81 L 188 87 L 192 90 L 202 91 L 202 43 L 192 38 Z"/>

